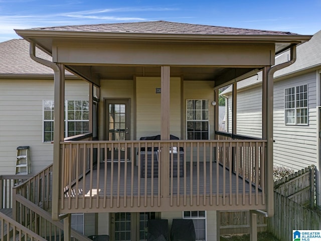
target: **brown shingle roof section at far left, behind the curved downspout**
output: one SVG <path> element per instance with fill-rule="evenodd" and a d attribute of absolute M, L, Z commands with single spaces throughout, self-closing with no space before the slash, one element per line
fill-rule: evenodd
<path fill-rule="evenodd" d="M 51 56 L 36 48 L 36 56 L 51 60 Z M 29 43 L 12 39 L 0 43 L 0 75 L 53 75 L 53 70 L 37 63 L 29 56 Z"/>

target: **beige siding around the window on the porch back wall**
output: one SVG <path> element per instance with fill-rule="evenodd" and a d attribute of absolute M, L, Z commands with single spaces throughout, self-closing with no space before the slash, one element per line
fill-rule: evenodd
<path fill-rule="evenodd" d="M 214 81 L 184 81 L 183 114 L 184 114 L 184 139 L 186 139 L 186 100 L 187 99 L 208 99 L 209 100 L 209 137 L 214 139 Z"/>

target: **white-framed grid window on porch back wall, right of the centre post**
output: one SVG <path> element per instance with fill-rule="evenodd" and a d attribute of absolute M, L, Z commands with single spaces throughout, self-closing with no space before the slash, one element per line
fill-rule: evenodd
<path fill-rule="evenodd" d="M 188 99 L 186 101 L 186 127 L 188 140 L 209 139 L 208 99 Z"/>

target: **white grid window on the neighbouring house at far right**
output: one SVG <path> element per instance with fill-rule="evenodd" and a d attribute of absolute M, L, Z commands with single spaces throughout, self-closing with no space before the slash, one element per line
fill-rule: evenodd
<path fill-rule="evenodd" d="M 284 91 L 284 115 L 287 125 L 307 125 L 307 84 Z"/>

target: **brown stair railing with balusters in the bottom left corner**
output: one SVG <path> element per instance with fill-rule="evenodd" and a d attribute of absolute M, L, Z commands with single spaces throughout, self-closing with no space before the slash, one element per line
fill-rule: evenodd
<path fill-rule="evenodd" d="M 11 232 L 11 230 L 15 230 L 12 232 L 13 238 L 10 240 L 35 240 L 35 241 L 46 241 L 45 238 L 41 237 L 37 233 L 31 231 L 29 228 L 15 221 L 14 219 L 8 217 L 6 214 L 0 212 L 0 221 L 2 222 L 2 227 L 7 224 L 7 235 Z M 18 233 L 17 233 L 18 232 Z M 27 237 L 25 236 L 27 235 Z M 4 233 L 1 232 L 1 240 L 4 240 Z M 8 238 L 7 238 L 8 239 Z M 9 240 L 9 239 L 8 239 Z"/>

